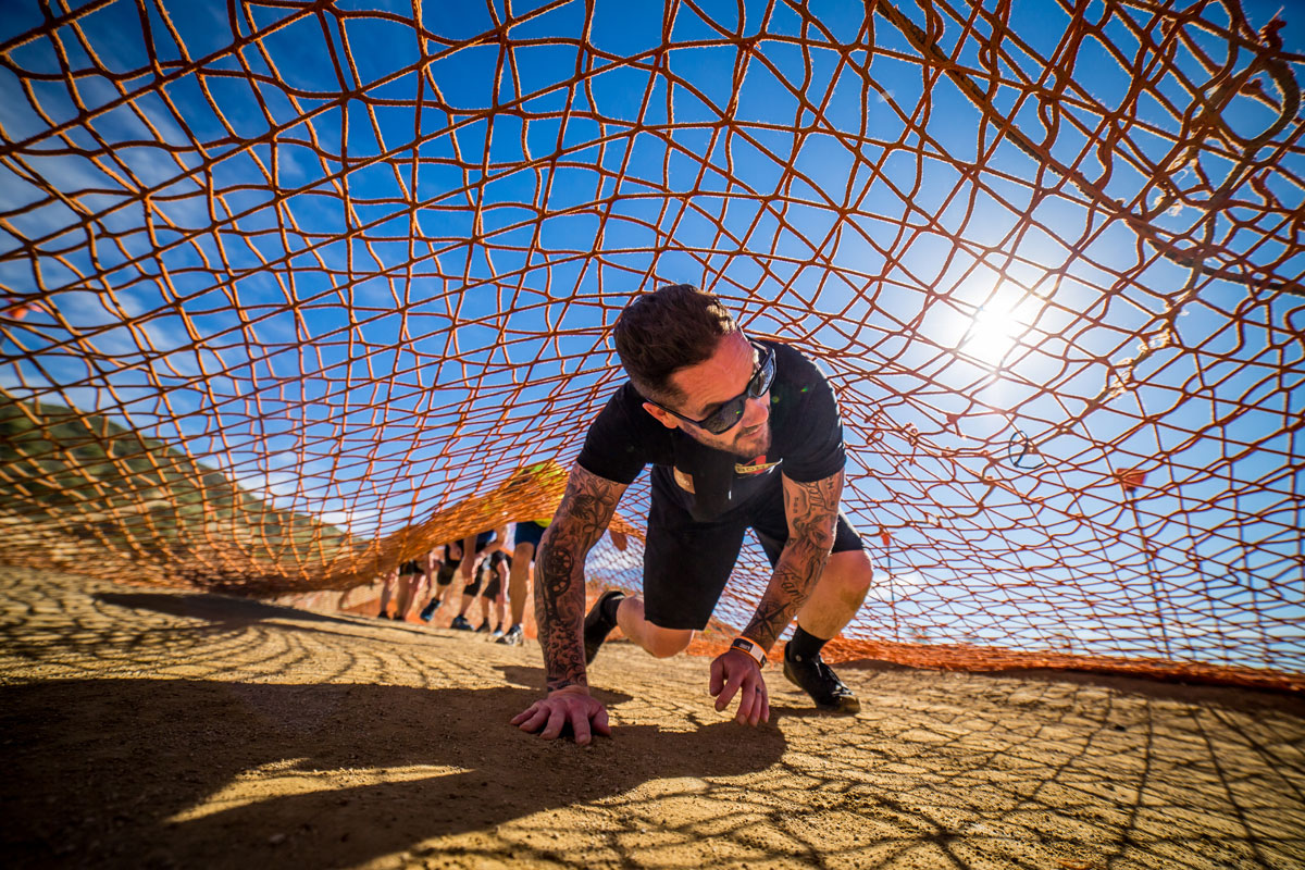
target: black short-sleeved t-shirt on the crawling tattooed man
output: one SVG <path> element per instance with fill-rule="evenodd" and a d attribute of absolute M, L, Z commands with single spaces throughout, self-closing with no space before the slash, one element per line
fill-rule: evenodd
<path fill-rule="evenodd" d="M 676 487 L 696 519 L 731 510 L 783 472 L 790 480 L 823 480 L 843 468 L 843 421 L 825 374 L 796 348 L 761 342 L 775 352 L 770 386 L 770 450 L 741 459 L 668 429 L 643 410 L 643 398 L 626 381 L 589 428 L 578 462 L 585 471 L 632 484 L 647 464 L 673 467 L 692 480 L 693 492 Z"/>

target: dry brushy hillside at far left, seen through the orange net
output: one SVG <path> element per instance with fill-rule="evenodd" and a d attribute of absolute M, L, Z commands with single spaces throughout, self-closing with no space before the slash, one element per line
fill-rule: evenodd
<path fill-rule="evenodd" d="M 4 561 L 103 573 L 85 561 L 119 556 L 142 580 L 245 591 L 274 578 L 283 588 L 287 574 L 312 574 L 360 543 L 100 413 L 3 394 L 0 518 Z"/>

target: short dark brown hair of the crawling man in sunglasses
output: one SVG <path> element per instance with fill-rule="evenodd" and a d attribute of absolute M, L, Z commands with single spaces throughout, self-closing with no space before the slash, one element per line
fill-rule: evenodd
<path fill-rule="evenodd" d="M 715 293 L 667 284 L 639 296 L 616 318 L 616 353 L 643 398 L 683 400 L 671 376 L 706 361 L 737 330 Z"/>

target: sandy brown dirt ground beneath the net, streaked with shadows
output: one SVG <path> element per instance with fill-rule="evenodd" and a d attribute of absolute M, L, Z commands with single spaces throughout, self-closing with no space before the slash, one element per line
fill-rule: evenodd
<path fill-rule="evenodd" d="M 532 642 L 16 569 L 0 637 L 5 867 L 1305 867 L 1296 697 L 865 663 L 748 729 L 613 643 L 581 749 Z"/>

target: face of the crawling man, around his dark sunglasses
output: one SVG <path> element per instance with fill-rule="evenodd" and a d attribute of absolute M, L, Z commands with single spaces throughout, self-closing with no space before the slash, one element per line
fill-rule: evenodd
<path fill-rule="evenodd" d="M 743 333 L 735 331 L 716 343 L 715 352 L 697 365 L 680 369 L 671 376 L 671 385 L 684 399 L 669 406 L 686 417 L 702 420 L 722 403 L 740 395 L 757 372 L 757 351 Z M 770 393 L 748 399 L 739 423 L 720 434 L 680 420 L 655 404 L 643 403 L 654 417 L 669 428 L 679 427 L 709 447 L 732 453 L 743 459 L 760 457 L 770 449 Z"/>

